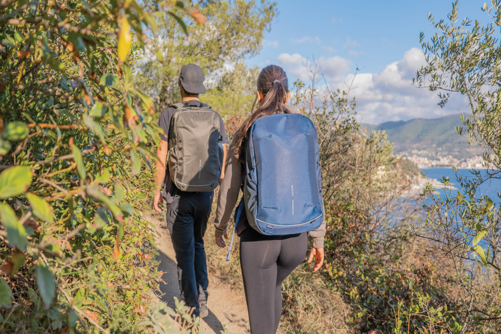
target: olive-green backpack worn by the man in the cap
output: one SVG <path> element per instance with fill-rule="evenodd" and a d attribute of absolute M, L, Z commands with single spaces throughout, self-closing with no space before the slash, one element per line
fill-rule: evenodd
<path fill-rule="evenodd" d="M 176 103 L 170 122 L 170 177 L 182 191 L 211 191 L 219 183 L 223 162 L 219 116 L 204 103 L 200 107 Z"/>

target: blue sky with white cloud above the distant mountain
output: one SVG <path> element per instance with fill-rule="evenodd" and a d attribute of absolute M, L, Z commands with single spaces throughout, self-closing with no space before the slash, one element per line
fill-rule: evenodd
<path fill-rule="evenodd" d="M 436 118 L 467 112 L 462 97 L 444 109 L 435 94 L 410 84 L 424 61 L 419 33 L 429 40 L 434 29 L 428 13 L 445 19 L 452 8 L 448 0 L 422 1 L 315 1 L 279 0 L 280 11 L 270 33 L 265 34 L 260 55 L 248 65 L 284 67 L 291 79 L 308 80 L 302 63 L 320 60 L 332 88 L 352 79 L 355 69 L 359 119 L 368 123 L 411 118 Z M 484 0 L 460 2 L 459 18 L 487 23 L 481 11 Z"/>

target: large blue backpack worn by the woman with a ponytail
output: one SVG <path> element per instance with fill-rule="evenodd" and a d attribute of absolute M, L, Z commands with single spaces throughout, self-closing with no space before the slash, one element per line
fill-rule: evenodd
<path fill-rule="evenodd" d="M 318 134 L 300 114 L 257 119 L 245 151 L 249 225 L 266 235 L 313 231 L 324 219 Z"/>

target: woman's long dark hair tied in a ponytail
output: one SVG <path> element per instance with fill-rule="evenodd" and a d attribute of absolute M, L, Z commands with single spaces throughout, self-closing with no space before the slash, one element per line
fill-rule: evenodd
<path fill-rule="evenodd" d="M 248 130 L 250 126 L 258 118 L 273 114 L 283 114 L 284 104 L 287 101 L 287 93 L 289 93 L 289 80 L 284 69 L 277 65 L 268 65 L 258 77 L 258 91 L 263 94 L 263 99 L 258 103 L 258 107 L 254 110 L 258 95 L 254 99 L 254 104 L 250 110 L 250 115 L 243 121 L 242 126 L 238 130 L 235 142 L 235 157 L 243 162 L 243 141 L 248 138 Z"/>

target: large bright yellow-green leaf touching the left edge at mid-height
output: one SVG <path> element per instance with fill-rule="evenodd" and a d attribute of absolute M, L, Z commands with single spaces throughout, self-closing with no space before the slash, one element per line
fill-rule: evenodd
<path fill-rule="evenodd" d="M 21 195 L 30 188 L 33 174 L 29 166 L 14 166 L 0 173 L 0 199 Z"/>

